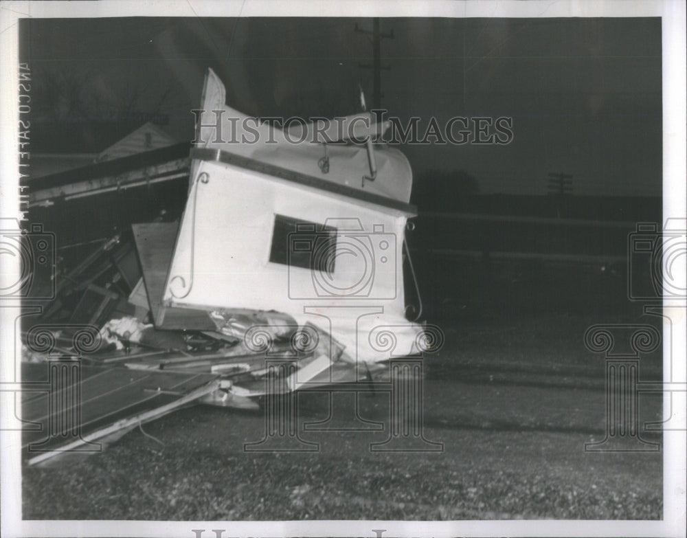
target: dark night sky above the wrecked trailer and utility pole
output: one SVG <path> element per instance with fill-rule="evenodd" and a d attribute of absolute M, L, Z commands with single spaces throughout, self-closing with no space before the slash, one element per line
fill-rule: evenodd
<path fill-rule="evenodd" d="M 357 112 L 359 85 L 372 100 L 372 72 L 359 67 L 372 44 L 356 23 L 372 29 L 371 19 L 25 20 L 34 131 L 128 103 L 190 140 L 207 67 L 227 104 L 251 115 Z M 391 30 L 381 43 L 390 115 L 418 115 L 421 130 L 432 116 L 513 117 L 505 146 L 404 144 L 416 177 L 462 170 L 483 193 L 545 194 L 548 173 L 566 172 L 575 194 L 660 196 L 660 19 L 381 19 Z M 55 90 L 63 79 L 76 89 Z"/>

